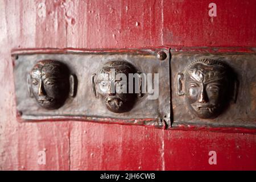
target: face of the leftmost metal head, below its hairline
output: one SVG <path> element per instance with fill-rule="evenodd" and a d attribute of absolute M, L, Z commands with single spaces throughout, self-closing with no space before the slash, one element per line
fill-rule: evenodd
<path fill-rule="evenodd" d="M 45 109 L 57 109 L 63 105 L 68 96 L 69 81 L 54 72 L 44 72 L 47 69 L 54 69 L 54 67 L 44 65 L 32 70 L 31 92 L 40 106 Z"/>

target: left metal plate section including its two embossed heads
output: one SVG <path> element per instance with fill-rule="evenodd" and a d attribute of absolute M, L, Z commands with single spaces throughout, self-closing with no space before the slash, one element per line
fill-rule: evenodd
<path fill-rule="evenodd" d="M 165 60 L 158 60 L 159 51 L 166 53 Z M 17 115 L 22 121 L 79 120 L 170 127 L 168 48 L 19 49 L 12 54 L 16 108 L 17 113 L 22 113 Z M 108 90 L 112 83 L 123 83 L 111 77 L 110 69 L 126 76 L 129 73 L 150 73 L 152 90 L 154 75 L 158 74 L 159 96 L 150 100 L 148 97 L 152 93 L 142 93 L 141 87 L 138 93 L 100 92 L 101 89 Z M 124 87 L 129 89 L 129 85 L 122 85 Z M 30 92 L 26 91 L 27 88 Z"/>

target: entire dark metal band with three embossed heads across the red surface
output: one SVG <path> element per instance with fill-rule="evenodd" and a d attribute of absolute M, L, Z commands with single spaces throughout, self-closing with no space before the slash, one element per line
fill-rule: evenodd
<path fill-rule="evenodd" d="M 243 129 L 256 127 L 256 54 L 255 51 L 231 50 L 171 49 L 171 61 L 168 48 L 16 50 L 13 58 L 17 116 L 22 121 L 72 119 L 174 130 L 229 132 L 235 127 L 236 131 L 242 129 L 241 132 L 247 132 Z M 159 52 L 167 55 L 162 61 L 159 61 Z M 41 67 L 47 65 L 40 63 L 42 60 L 52 60 L 51 64 L 58 61 L 61 64 L 56 65 L 56 70 L 68 70 L 64 74 L 66 81 L 61 78 L 51 83 L 57 87 L 60 83 L 65 85 L 60 86 L 66 90 L 60 104 L 55 102 L 46 106 L 38 103 L 42 88 L 40 90 L 39 85 L 32 85 L 31 73 L 33 68 L 40 68 L 39 72 L 42 72 Z M 159 73 L 159 97 L 149 100 L 150 93 L 142 93 L 142 77 L 139 77 L 141 85 L 137 93 L 108 93 L 109 89 L 116 89 L 112 84 L 129 88 L 119 78 L 112 77 L 111 69 L 126 77 L 129 73 Z M 44 79 L 40 79 L 41 84 L 46 84 Z M 44 94 L 57 98 L 55 93 L 58 92 L 47 91 L 47 86 L 43 85 Z M 30 92 L 26 91 L 27 88 Z M 102 89 L 107 92 L 101 92 Z"/>

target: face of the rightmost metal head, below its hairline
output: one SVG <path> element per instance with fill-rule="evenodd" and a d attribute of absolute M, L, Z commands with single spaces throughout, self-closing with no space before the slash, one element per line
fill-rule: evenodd
<path fill-rule="evenodd" d="M 194 69 L 195 71 L 195 69 Z M 210 72 L 210 71 L 209 71 Z M 185 97 L 189 109 L 199 118 L 215 118 L 222 109 L 226 85 L 222 77 L 207 79 L 209 73 L 201 69 L 195 75 L 187 75 L 185 81 Z"/>

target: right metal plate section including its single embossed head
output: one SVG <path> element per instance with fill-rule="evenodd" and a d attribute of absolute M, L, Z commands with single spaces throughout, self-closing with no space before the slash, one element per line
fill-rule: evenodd
<path fill-rule="evenodd" d="M 172 51 L 172 127 L 256 127 L 256 55 Z"/>

